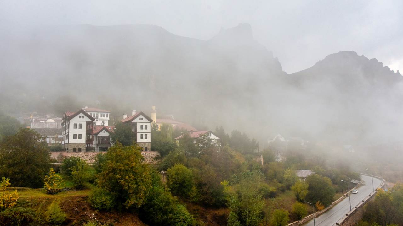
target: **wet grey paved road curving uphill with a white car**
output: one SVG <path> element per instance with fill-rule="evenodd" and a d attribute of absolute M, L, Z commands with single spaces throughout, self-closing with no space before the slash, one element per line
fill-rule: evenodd
<path fill-rule="evenodd" d="M 372 179 L 369 176 L 361 175 L 361 180 L 365 182 L 365 184 L 358 188 L 357 194 L 351 194 L 351 209 L 354 208 L 359 202 L 362 201 L 365 197 L 367 197 L 372 192 Z M 374 177 L 374 189 L 376 189 L 381 183 L 381 180 Z M 339 202 L 333 208 L 328 210 L 328 212 L 320 215 L 318 218 L 315 218 L 316 226 L 332 226 L 336 224 L 340 218 L 345 216 L 347 212 L 350 211 L 349 197 L 343 199 L 343 201 Z M 311 220 L 304 226 L 314 226 L 314 221 Z"/>

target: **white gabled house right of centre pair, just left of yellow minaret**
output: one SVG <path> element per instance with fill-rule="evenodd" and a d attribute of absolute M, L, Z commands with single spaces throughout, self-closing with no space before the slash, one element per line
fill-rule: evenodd
<path fill-rule="evenodd" d="M 131 111 L 131 116 L 123 114 L 122 123 L 131 123 L 136 143 L 145 151 L 151 151 L 151 123 L 153 120 L 142 111 Z"/>

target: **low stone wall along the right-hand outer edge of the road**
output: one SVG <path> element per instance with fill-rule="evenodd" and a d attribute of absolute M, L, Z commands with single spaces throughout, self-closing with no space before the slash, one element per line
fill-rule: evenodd
<path fill-rule="evenodd" d="M 372 175 L 368 175 L 365 173 L 361 173 L 362 175 L 366 175 L 366 176 L 370 176 L 370 177 L 376 177 L 376 176 L 372 176 Z M 377 189 L 381 189 L 384 185 L 385 185 L 385 180 L 383 178 L 380 177 L 376 177 L 378 179 L 380 179 L 382 182 L 380 183 L 379 187 Z M 353 210 L 351 210 L 350 212 L 348 212 L 346 214 L 346 216 L 344 216 L 343 218 L 341 218 L 338 222 L 336 222 L 336 225 L 340 225 L 340 226 L 353 226 L 355 224 L 357 224 L 359 222 L 359 220 L 362 219 L 362 217 L 364 216 L 364 205 L 366 203 L 368 203 L 368 201 L 371 201 L 375 195 L 376 195 L 377 191 L 372 192 L 370 195 L 368 195 L 365 199 L 362 200 L 361 203 L 359 203 L 358 205 L 356 205 L 354 207 Z"/>

